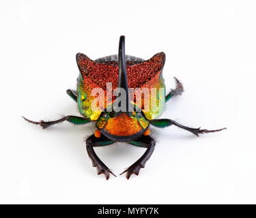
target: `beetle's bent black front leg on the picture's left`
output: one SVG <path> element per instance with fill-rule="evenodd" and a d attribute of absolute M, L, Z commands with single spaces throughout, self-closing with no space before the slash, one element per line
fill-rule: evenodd
<path fill-rule="evenodd" d="M 115 141 L 111 141 L 106 136 L 101 135 L 100 138 L 96 138 L 94 135 L 89 136 L 86 140 L 86 149 L 91 159 L 92 166 L 97 168 L 98 175 L 104 174 L 106 180 L 109 179 L 109 174 L 113 174 L 113 172 L 100 160 L 100 158 L 96 155 L 94 151 L 95 146 L 106 146 L 109 144 L 113 144 Z M 115 174 L 113 174 L 115 176 Z"/>

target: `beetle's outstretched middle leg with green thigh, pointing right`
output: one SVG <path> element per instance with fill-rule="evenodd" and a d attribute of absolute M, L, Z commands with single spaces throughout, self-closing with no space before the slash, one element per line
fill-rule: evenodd
<path fill-rule="evenodd" d="M 175 125 L 176 127 L 180 127 L 187 131 L 190 131 L 191 133 L 195 134 L 196 136 L 199 136 L 199 134 L 208 134 L 210 132 L 221 131 L 223 129 L 227 129 L 227 128 L 222 128 L 222 129 L 208 130 L 208 129 L 200 129 L 201 127 L 190 128 L 190 127 L 181 125 L 180 123 L 177 123 L 171 119 L 155 119 L 155 120 L 150 121 L 150 124 L 154 125 L 155 127 L 159 127 L 159 128 L 165 128 L 165 127 L 169 127 L 170 125 Z"/>

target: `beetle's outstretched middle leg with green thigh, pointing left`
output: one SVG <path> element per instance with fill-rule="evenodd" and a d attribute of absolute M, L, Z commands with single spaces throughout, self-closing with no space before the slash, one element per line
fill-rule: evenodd
<path fill-rule="evenodd" d="M 46 129 L 50 125 L 61 123 L 63 121 L 68 121 L 70 123 L 73 123 L 74 125 L 83 125 L 83 124 L 87 124 L 87 123 L 91 122 L 89 119 L 86 119 L 86 118 L 80 117 L 80 116 L 64 116 L 63 118 L 61 118 L 57 121 L 49 121 L 49 122 L 46 122 L 46 121 L 39 121 L 39 122 L 30 121 L 29 119 L 25 118 L 24 116 L 23 116 L 23 119 L 25 119 L 25 121 L 28 121 L 29 123 L 40 125 L 43 129 Z"/>

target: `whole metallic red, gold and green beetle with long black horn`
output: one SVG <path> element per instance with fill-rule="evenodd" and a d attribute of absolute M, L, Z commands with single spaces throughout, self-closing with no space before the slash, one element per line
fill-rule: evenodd
<path fill-rule="evenodd" d="M 145 163 L 152 155 L 155 147 L 155 140 L 150 136 L 150 125 L 154 127 L 168 127 L 175 125 L 182 129 L 186 129 L 191 133 L 199 136 L 199 134 L 221 131 L 223 129 L 207 130 L 200 128 L 190 128 L 171 119 L 157 119 L 162 114 L 167 102 L 171 97 L 182 94 L 182 83 L 176 80 L 176 88 L 165 95 L 165 83 L 162 77 L 162 69 L 165 65 L 165 53 L 160 52 L 151 59 L 145 61 L 141 58 L 125 55 L 124 36 L 120 37 L 118 55 L 111 55 L 92 61 L 86 55 L 78 53 L 76 55 L 77 65 L 80 70 L 79 78 L 77 78 L 77 90 L 67 90 L 68 95 L 77 102 L 80 116 L 64 116 L 56 121 L 30 121 L 23 117 L 29 123 L 40 125 L 43 129 L 68 121 L 74 125 L 83 125 L 87 123 L 96 123 L 96 131 L 86 140 L 87 153 L 94 167 L 97 168 L 98 174 L 104 174 L 109 179 L 109 174 L 113 172 L 99 159 L 94 151 L 94 146 L 107 146 L 115 142 L 127 142 L 134 146 L 146 148 L 145 153 L 140 159 L 133 163 L 123 173 L 126 172 L 126 178 L 130 178 L 131 174 L 139 174 L 139 170 L 145 167 Z M 108 95 L 109 89 L 107 84 L 111 84 L 111 88 L 117 88 L 117 91 L 123 89 L 125 91 L 122 110 L 118 108 L 118 95 Z M 98 107 L 93 107 L 92 103 L 98 95 L 92 95 L 94 89 L 103 90 L 102 102 L 98 102 Z M 133 88 L 133 93 L 129 90 Z M 156 95 L 141 95 L 141 99 L 135 101 L 140 90 L 153 90 Z M 139 91 L 138 91 L 139 90 Z M 110 96 L 110 97 L 109 97 Z M 133 96 L 133 98 L 132 98 Z M 136 97 L 134 97 L 136 96 Z M 138 99 L 137 99 L 138 100 Z M 157 107 L 145 109 L 148 101 L 155 102 Z M 99 103 L 101 106 L 99 106 Z M 120 107 L 119 107 L 120 109 Z M 113 174 L 115 176 L 115 174 Z"/>

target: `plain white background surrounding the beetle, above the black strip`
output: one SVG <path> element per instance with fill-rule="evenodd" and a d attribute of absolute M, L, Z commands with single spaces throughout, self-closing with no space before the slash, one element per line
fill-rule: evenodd
<path fill-rule="evenodd" d="M 256 203 L 255 1 L 1 1 L 0 203 Z M 167 55 L 185 92 L 165 118 L 227 131 L 197 138 L 153 129 L 152 158 L 139 176 L 96 174 L 85 149 L 93 125 L 48 129 L 26 123 L 78 115 L 76 52 Z M 96 149 L 119 174 L 144 152 L 118 143 Z"/>

